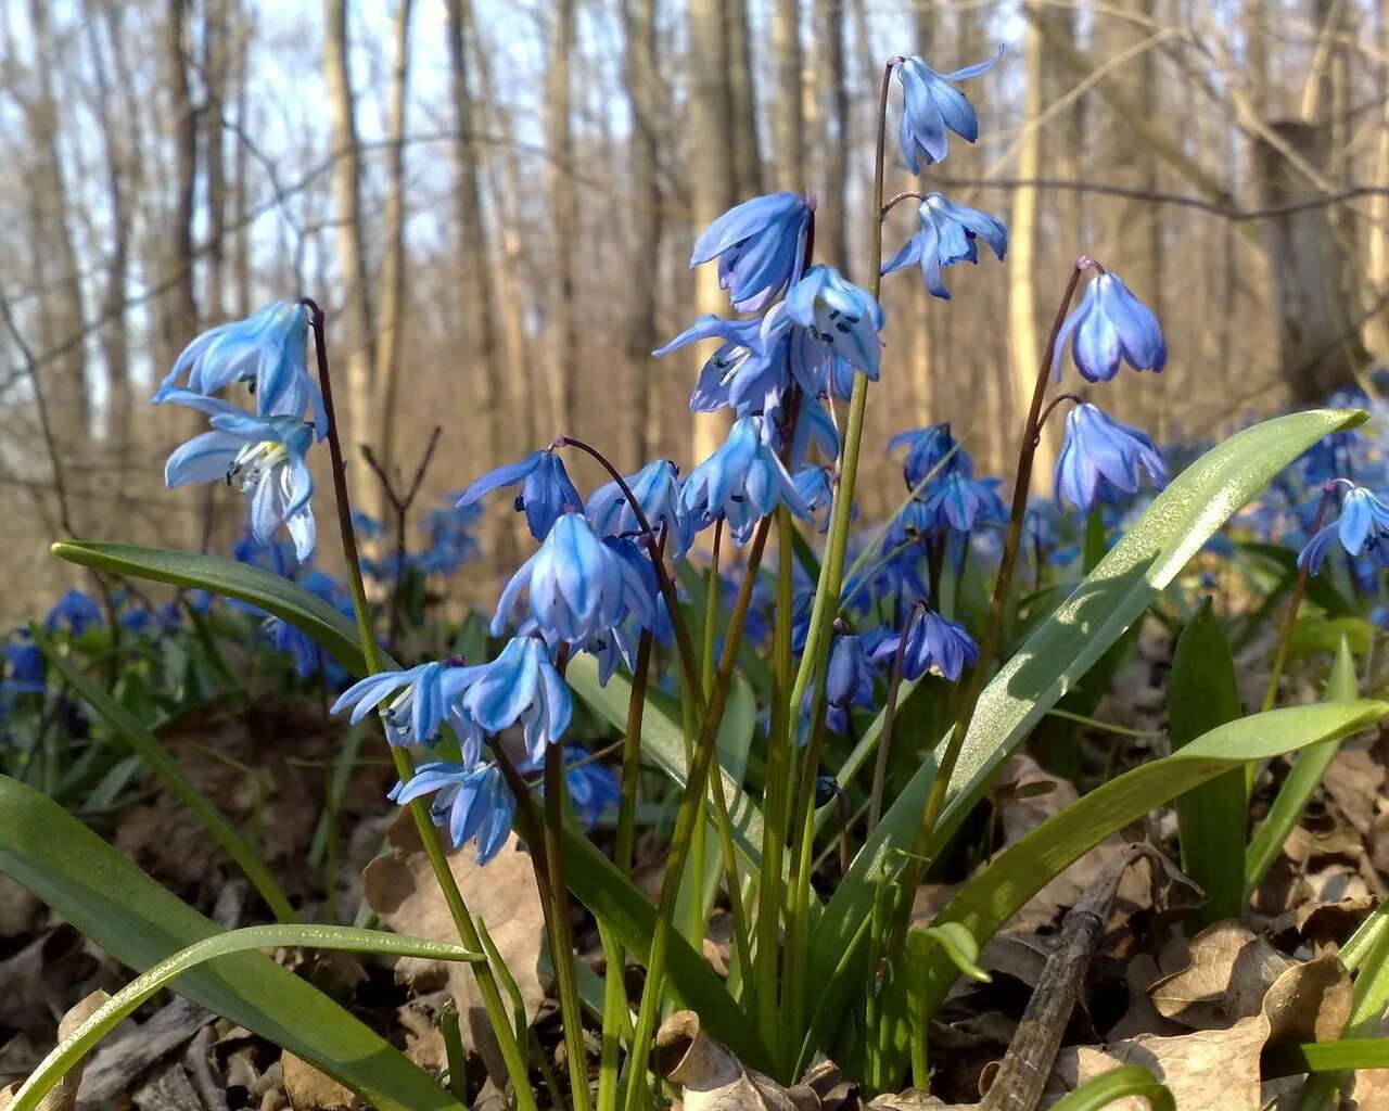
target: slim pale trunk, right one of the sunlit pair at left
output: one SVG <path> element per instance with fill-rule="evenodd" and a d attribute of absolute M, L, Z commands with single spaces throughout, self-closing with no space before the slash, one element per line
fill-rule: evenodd
<path fill-rule="evenodd" d="M 381 265 L 381 333 L 376 336 L 376 411 L 382 469 L 396 465 L 396 410 L 400 401 L 401 314 L 406 303 L 406 103 L 410 94 L 410 17 L 414 0 L 396 6 L 396 65 L 386 119 L 386 250 Z"/>

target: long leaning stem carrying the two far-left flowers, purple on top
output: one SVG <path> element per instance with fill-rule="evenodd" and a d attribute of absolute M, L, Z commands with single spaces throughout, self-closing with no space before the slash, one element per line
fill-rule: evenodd
<path fill-rule="evenodd" d="M 371 614 L 367 608 L 367 587 L 361 579 L 361 557 L 357 553 L 357 536 L 351 526 L 351 500 L 347 496 L 347 464 L 343 460 L 342 440 L 338 435 L 338 415 L 333 410 L 332 375 L 328 371 L 328 337 L 324 331 L 324 311 L 317 301 L 304 299 L 304 307 L 310 312 L 310 324 L 314 332 L 314 356 L 318 360 L 318 385 L 324 394 L 324 412 L 328 418 L 328 456 L 332 461 L 333 496 L 338 506 L 338 528 L 342 535 L 343 560 L 347 565 L 347 586 L 351 592 L 353 612 L 357 618 L 357 636 L 361 640 L 361 654 L 367 674 L 375 675 L 381 671 L 381 650 L 376 647 L 376 637 L 371 628 Z M 390 749 L 390 760 L 396 767 L 396 775 L 401 783 L 408 783 L 415 774 L 410 754 L 394 744 Z M 435 874 L 439 890 L 443 892 L 444 904 L 449 907 L 449 917 L 453 918 L 454 928 L 464 946 L 482 951 L 482 940 L 478 929 L 468 912 L 468 905 L 458 890 L 458 882 L 449 868 L 443 846 L 435 832 L 435 825 L 429 818 L 429 808 L 422 800 L 408 804 L 410 817 L 419 833 L 419 843 L 424 846 L 429 860 L 429 868 Z M 501 1003 L 501 993 L 497 990 L 497 980 L 486 962 L 472 965 L 472 975 L 478 985 L 478 994 L 482 996 L 482 1005 L 488 1012 L 488 1019 L 497 1036 L 497 1046 L 501 1060 L 507 1067 L 507 1076 L 515 1092 L 517 1111 L 538 1111 L 535 1093 L 531 1090 L 531 1076 L 526 1069 L 525 1054 L 517 1043 L 507 1018 L 506 1007 Z"/>

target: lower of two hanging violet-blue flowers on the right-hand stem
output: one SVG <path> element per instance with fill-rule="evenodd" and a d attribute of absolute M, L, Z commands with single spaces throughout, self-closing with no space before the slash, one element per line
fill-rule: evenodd
<path fill-rule="evenodd" d="M 1145 432 L 1083 401 L 1065 414 L 1065 440 L 1056 460 L 1057 507 L 1065 499 L 1089 512 L 1100 500 L 1138 493 L 1139 468 L 1158 489 L 1167 483 L 1163 454 Z"/>

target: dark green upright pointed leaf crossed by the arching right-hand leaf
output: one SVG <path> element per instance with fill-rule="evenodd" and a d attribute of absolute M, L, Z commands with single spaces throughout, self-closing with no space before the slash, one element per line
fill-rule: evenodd
<path fill-rule="evenodd" d="M 1167 686 L 1167 721 L 1176 751 L 1203 733 L 1238 719 L 1239 682 L 1225 630 L 1206 599 L 1182 629 Z M 1245 910 L 1245 771 L 1236 768 L 1176 800 L 1182 871 L 1206 892 L 1197 929 Z"/>

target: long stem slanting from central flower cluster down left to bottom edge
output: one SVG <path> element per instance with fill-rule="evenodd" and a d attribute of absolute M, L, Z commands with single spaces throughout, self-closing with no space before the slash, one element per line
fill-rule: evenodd
<path fill-rule="evenodd" d="M 761 565 L 763 549 L 767 546 L 770 526 L 771 518 L 764 517 L 757 525 L 757 533 L 753 536 L 753 543 L 749 549 L 747 572 L 739 586 L 738 600 L 733 603 L 728 635 L 724 639 L 724 654 L 714 675 L 714 689 L 700 725 L 694 760 L 690 762 L 685 794 L 681 799 L 681 807 L 675 817 L 671 853 L 665 864 L 665 875 L 661 878 L 661 899 L 656 915 L 656 932 L 651 936 L 651 954 L 646 967 L 646 986 L 642 989 L 642 1004 L 636 1015 L 632 1055 L 626 1062 L 628 1078 L 622 1101 L 625 1111 L 638 1111 L 643 1099 L 643 1076 L 646 1075 L 651 1039 L 656 1035 L 656 1019 L 660 1014 L 661 996 L 665 990 L 665 955 L 669 951 L 671 930 L 674 929 L 675 896 L 679 892 L 685 865 L 689 861 L 689 846 L 697 815 L 696 803 L 704 797 L 710 767 L 714 762 L 714 740 L 718 736 L 718 726 L 724 717 L 724 708 L 728 704 L 728 692 L 733 685 L 733 667 L 738 660 L 738 649 L 742 642 L 743 626 L 747 621 L 747 611 L 751 607 L 753 585 L 757 580 L 757 569 Z"/>

